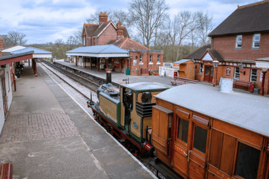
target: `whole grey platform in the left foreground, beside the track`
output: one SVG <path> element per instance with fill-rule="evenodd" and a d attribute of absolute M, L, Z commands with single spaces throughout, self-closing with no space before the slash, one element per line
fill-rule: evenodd
<path fill-rule="evenodd" d="M 0 135 L 13 178 L 156 178 L 38 64 L 33 73 L 25 65 L 16 80 Z"/>

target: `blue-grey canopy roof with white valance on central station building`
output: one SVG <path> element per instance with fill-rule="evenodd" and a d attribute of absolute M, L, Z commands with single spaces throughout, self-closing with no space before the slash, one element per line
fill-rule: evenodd
<path fill-rule="evenodd" d="M 66 52 L 66 55 L 86 57 L 129 57 L 129 51 L 121 49 L 114 44 L 102 46 L 79 47 Z"/>

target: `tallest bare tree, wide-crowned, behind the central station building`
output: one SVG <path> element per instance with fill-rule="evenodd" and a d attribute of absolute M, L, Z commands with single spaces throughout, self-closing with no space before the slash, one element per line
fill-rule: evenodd
<path fill-rule="evenodd" d="M 156 28 L 168 17 L 169 6 L 164 0 L 131 0 L 129 2 L 130 22 L 141 32 L 143 44 L 149 47 Z M 146 40 L 146 42 L 145 42 Z"/>

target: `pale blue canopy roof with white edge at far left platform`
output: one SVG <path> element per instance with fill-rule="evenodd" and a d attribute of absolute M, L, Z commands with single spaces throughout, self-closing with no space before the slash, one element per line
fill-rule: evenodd
<path fill-rule="evenodd" d="M 42 49 L 37 49 L 34 47 L 27 47 L 24 49 L 19 49 L 10 52 L 11 54 L 19 54 L 19 53 L 25 53 L 29 51 L 34 51 L 33 58 L 51 58 L 52 57 L 52 52 L 42 50 Z"/>

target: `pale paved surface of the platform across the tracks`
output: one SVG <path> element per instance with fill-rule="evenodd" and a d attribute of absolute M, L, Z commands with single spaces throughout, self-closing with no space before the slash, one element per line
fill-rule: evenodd
<path fill-rule="evenodd" d="M 76 66 L 75 63 L 70 63 L 70 62 L 66 62 L 66 61 L 58 61 L 57 63 L 61 63 L 64 65 L 70 66 L 71 68 L 78 69 L 80 71 L 84 71 L 86 73 L 96 75 L 98 77 L 106 79 L 106 71 L 105 70 L 99 70 L 99 72 L 97 72 L 97 68 L 93 68 L 93 70 L 90 70 L 90 68 L 82 68 L 82 67 Z M 172 83 L 170 81 L 173 81 L 174 79 L 172 77 L 168 77 L 168 76 L 165 76 L 165 77 L 160 77 L 160 76 L 155 76 L 155 75 L 133 76 L 133 75 L 126 75 L 124 73 L 119 73 L 119 72 L 112 72 L 112 81 L 114 81 L 114 82 L 120 83 L 120 82 L 122 82 L 123 79 L 128 79 L 128 78 L 129 78 L 130 83 L 157 82 L 157 83 L 161 83 L 161 84 L 170 85 L 172 87 L 177 86 L 177 85 L 172 85 Z M 198 83 L 203 84 L 203 85 L 207 85 L 207 86 L 213 86 L 213 84 L 207 83 L 207 82 L 200 82 L 199 81 Z M 219 85 L 216 85 L 215 87 L 220 88 Z M 246 94 L 250 94 L 250 95 L 257 95 L 254 93 L 250 93 L 249 91 L 239 89 L 239 88 L 233 88 L 233 91 L 246 93 Z M 259 96 L 259 95 L 257 95 L 257 96 Z M 269 95 L 264 95 L 264 97 L 269 98 Z"/>

